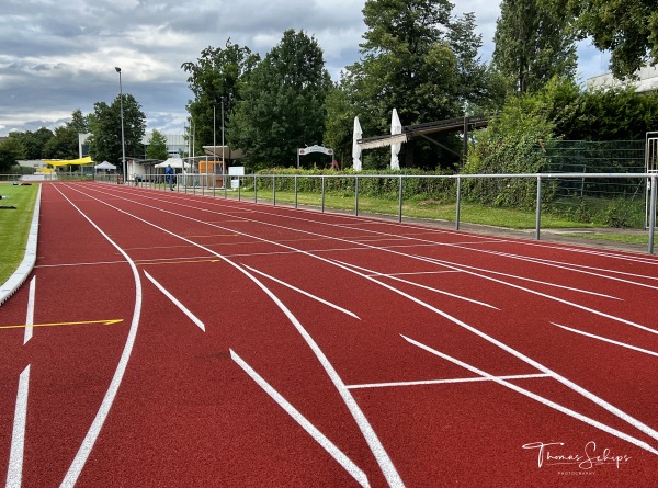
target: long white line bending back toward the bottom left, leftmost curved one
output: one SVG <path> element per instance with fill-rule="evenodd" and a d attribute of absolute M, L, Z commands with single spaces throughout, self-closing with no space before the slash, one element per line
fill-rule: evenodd
<path fill-rule="evenodd" d="M 135 338 L 137 337 L 137 329 L 139 328 L 139 317 L 141 315 L 141 279 L 139 277 L 139 272 L 137 271 L 137 266 L 135 262 L 131 259 L 131 257 L 121 248 L 116 242 L 114 242 L 110 236 L 107 236 L 101 228 L 84 213 L 76 206 L 61 191 L 54 185 L 54 188 L 64 196 L 73 208 L 76 208 L 82 217 L 84 217 L 100 234 L 103 236 L 107 242 L 110 242 L 127 261 L 133 271 L 133 280 L 135 281 L 135 308 L 133 310 L 133 320 L 131 322 L 131 330 L 128 331 L 128 336 L 126 337 L 126 343 L 121 353 L 121 358 L 116 365 L 116 370 L 114 371 L 114 376 L 112 376 L 112 382 L 107 387 L 107 391 L 105 391 L 105 396 L 103 397 L 103 401 L 101 402 L 97 415 L 87 431 L 87 435 L 82 440 L 80 444 L 80 449 L 76 453 L 76 457 L 71 462 L 71 465 L 66 473 L 64 480 L 61 481 L 60 488 L 72 488 L 78 478 L 80 477 L 80 473 L 82 473 L 82 468 L 89 458 L 89 454 L 95 444 L 97 439 L 101 433 L 101 429 L 107 419 L 107 415 L 110 413 L 110 409 L 112 408 L 112 404 L 114 404 L 114 399 L 116 398 L 116 393 L 118 391 L 118 387 L 121 386 L 121 382 L 123 381 L 123 376 L 126 372 L 126 367 L 128 366 L 128 360 L 131 359 L 131 353 L 133 352 L 133 347 L 135 345 Z"/>

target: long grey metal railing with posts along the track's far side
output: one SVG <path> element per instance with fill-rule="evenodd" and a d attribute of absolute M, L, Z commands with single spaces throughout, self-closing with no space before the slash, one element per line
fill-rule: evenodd
<path fill-rule="evenodd" d="M 542 229 L 542 192 L 545 182 L 557 181 L 559 179 L 605 179 L 605 180 L 617 180 L 617 179 L 632 179 L 642 180 L 647 185 L 647 206 L 649 207 L 649 219 L 646 224 L 648 231 L 648 252 L 654 253 L 654 231 L 656 228 L 656 200 L 658 192 L 658 173 L 521 173 L 521 174 L 451 174 L 451 175 L 407 175 L 407 174 L 248 174 L 241 177 L 225 177 L 226 180 L 223 182 L 231 181 L 230 190 L 226 184 L 217 188 L 216 179 L 214 175 L 207 174 L 178 174 L 177 184 L 172 186 L 172 190 L 177 192 L 193 193 L 201 195 L 217 196 L 218 194 L 228 197 L 230 192 L 231 197 L 237 193 L 237 198 L 242 200 L 242 189 L 248 188 L 253 193 L 253 202 L 259 202 L 259 186 L 261 189 L 271 189 L 272 205 L 276 205 L 276 189 L 277 180 L 293 179 L 294 189 L 294 206 L 298 207 L 298 195 L 299 195 L 299 180 L 300 179 L 319 179 L 320 184 L 320 212 L 325 212 L 325 198 L 327 193 L 327 181 L 332 179 L 353 180 L 351 191 L 354 195 L 354 215 L 359 215 L 359 197 L 360 197 L 360 181 L 365 179 L 386 179 L 397 180 L 397 219 L 402 222 L 402 206 L 404 206 L 404 182 L 405 180 L 413 179 L 434 179 L 434 180 L 451 180 L 455 188 L 455 229 L 460 229 L 461 224 L 461 211 L 463 201 L 463 183 L 468 180 L 491 180 L 491 179 L 509 179 L 509 180 L 527 180 L 536 183 L 536 200 L 535 200 L 535 239 L 541 240 Z M 213 184 L 213 181 L 215 182 Z M 110 182 L 115 183 L 114 180 Z M 146 174 L 140 178 L 139 181 L 127 182 L 145 188 L 169 189 L 169 183 L 163 174 Z"/>

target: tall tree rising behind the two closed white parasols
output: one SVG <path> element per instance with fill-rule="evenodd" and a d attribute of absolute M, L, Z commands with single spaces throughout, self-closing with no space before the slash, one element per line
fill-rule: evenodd
<path fill-rule="evenodd" d="M 356 110 L 364 135 L 387 134 L 390 113 L 397 109 L 404 125 L 464 115 L 469 105 L 490 99 L 488 68 L 477 52 L 481 37 L 474 34 L 475 18 L 453 18 L 447 0 L 368 0 L 363 9 L 367 31 L 361 46 L 362 60 L 348 67 L 341 78 Z M 434 167 L 455 161 L 460 140 L 438 135 L 439 145 L 424 141 L 402 145 L 401 161 Z M 368 151 L 366 159 L 377 159 Z M 389 159 L 381 152 L 384 166 Z"/>

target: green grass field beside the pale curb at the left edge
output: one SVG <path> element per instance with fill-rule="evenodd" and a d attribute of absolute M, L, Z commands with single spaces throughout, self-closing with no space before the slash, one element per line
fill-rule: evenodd
<path fill-rule="evenodd" d="M 0 183 L 0 206 L 15 207 L 0 209 L 0 283 L 4 283 L 23 260 L 37 193 L 38 184 Z"/>

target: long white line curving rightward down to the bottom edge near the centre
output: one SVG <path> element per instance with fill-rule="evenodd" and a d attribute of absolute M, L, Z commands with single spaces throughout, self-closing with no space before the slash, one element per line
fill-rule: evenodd
<path fill-rule="evenodd" d="M 343 383 L 343 381 L 340 378 L 340 376 L 338 375 L 338 372 L 333 368 L 333 366 L 331 365 L 331 363 L 329 362 L 329 360 L 327 359 L 327 356 L 325 355 L 325 353 L 322 352 L 322 350 L 320 349 L 320 347 L 315 342 L 315 340 L 313 339 L 313 337 L 306 331 L 306 329 L 302 326 L 302 324 L 297 320 L 297 318 L 293 315 L 293 313 L 279 299 L 279 297 L 273 294 L 270 288 L 268 288 L 261 281 L 259 281 L 253 274 L 251 274 L 248 270 L 246 270 L 245 268 L 240 266 L 239 264 L 232 262 L 231 260 L 229 260 L 228 258 L 226 258 L 223 254 L 219 254 L 218 252 L 206 248 L 205 246 L 202 246 L 197 242 L 194 242 L 190 239 L 186 239 L 185 237 L 179 236 L 178 234 L 172 232 L 171 230 L 168 230 L 163 227 L 160 227 L 151 222 L 148 222 L 141 217 L 138 217 L 134 214 L 131 214 L 124 209 L 121 209 L 107 202 L 103 202 L 94 196 L 91 196 L 80 190 L 76 190 L 78 191 L 78 193 L 81 193 L 86 196 L 89 196 L 92 200 L 95 200 L 97 202 L 100 202 L 111 208 L 116 209 L 117 212 L 124 214 L 124 215 L 128 215 L 133 218 L 135 218 L 136 220 L 139 220 L 146 225 L 149 225 L 154 228 L 157 228 L 161 231 L 163 231 L 164 234 L 169 234 L 170 236 L 177 237 L 185 242 L 190 242 L 193 246 L 198 247 L 200 249 L 203 249 L 204 251 L 207 251 L 209 253 L 212 253 L 213 256 L 218 257 L 219 259 L 222 259 L 223 261 L 225 261 L 227 264 L 234 266 L 236 270 L 240 271 L 240 273 L 242 273 L 245 276 L 247 276 L 249 280 L 251 280 L 259 288 L 261 288 L 271 299 L 272 302 L 274 302 L 274 304 L 281 309 L 281 311 L 284 313 L 284 315 L 288 318 L 288 320 L 291 321 L 291 324 L 295 327 L 295 329 L 298 331 L 298 333 L 303 337 L 303 339 L 306 341 L 306 343 L 308 344 L 308 347 L 310 348 L 310 350 L 314 352 L 314 354 L 316 355 L 316 358 L 318 359 L 318 361 L 320 362 L 321 366 L 324 367 L 325 372 L 327 373 L 327 375 L 329 376 L 329 378 L 331 379 L 331 382 L 333 383 L 333 386 L 336 387 L 336 389 L 338 390 L 339 395 L 341 396 L 341 398 L 343 399 L 343 401 L 345 402 L 345 406 L 348 407 L 348 410 L 350 410 L 350 413 L 352 415 L 352 417 L 354 418 L 354 421 L 356 422 L 356 425 L 359 427 L 359 429 L 361 430 L 362 435 L 365 439 L 365 442 L 367 443 L 368 447 L 371 449 L 371 452 L 373 453 L 373 456 L 375 457 L 375 461 L 377 462 L 379 468 L 382 469 L 382 473 L 384 474 L 384 477 L 386 478 L 388 485 L 390 487 L 404 487 L 405 484 L 402 483 L 402 479 L 400 478 L 399 474 L 397 473 L 395 466 L 393 465 L 393 462 L 390 461 L 390 458 L 388 457 L 388 453 L 386 452 L 386 450 L 384 449 L 384 445 L 382 444 L 382 442 L 379 441 L 379 439 L 377 438 L 377 434 L 375 433 L 374 429 L 372 428 L 372 425 L 370 424 L 367 418 L 365 417 L 365 415 L 363 413 L 363 411 L 361 410 L 361 408 L 359 407 L 359 404 L 356 404 L 356 400 L 354 400 L 354 397 L 352 397 L 352 394 L 348 390 L 348 388 L 345 387 L 345 384 Z M 112 195 L 115 196 L 115 195 Z M 127 198 L 124 198 L 127 200 Z M 149 208 L 155 208 L 161 212 L 166 212 L 169 214 L 174 214 L 173 212 L 169 212 L 169 211 L 162 211 L 161 208 L 155 207 L 155 206 L 150 206 L 150 205 L 145 205 L 145 204 L 140 204 L 144 205 L 146 207 Z M 219 227 L 216 226 L 214 224 L 209 224 L 203 220 L 197 220 L 194 219 L 192 217 L 185 217 L 180 215 L 180 217 L 182 218 L 188 218 L 194 222 L 202 222 L 205 225 L 211 225 L 213 227 Z M 219 227 L 220 228 L 220 227 Z M 261 239 L 258 238 L 259 240 L 262 241 L 266 241 L 265 239 Z M 284 246 L 285 247 L 285 246 Z M 292 248 L 293 249 L 293 248 Z M 303 252 L 303 251 L 300 251 Z M 336 265 L 336 264 L 334 264 Z M 376 281 L 375 281 L 376 283 Z"/>

